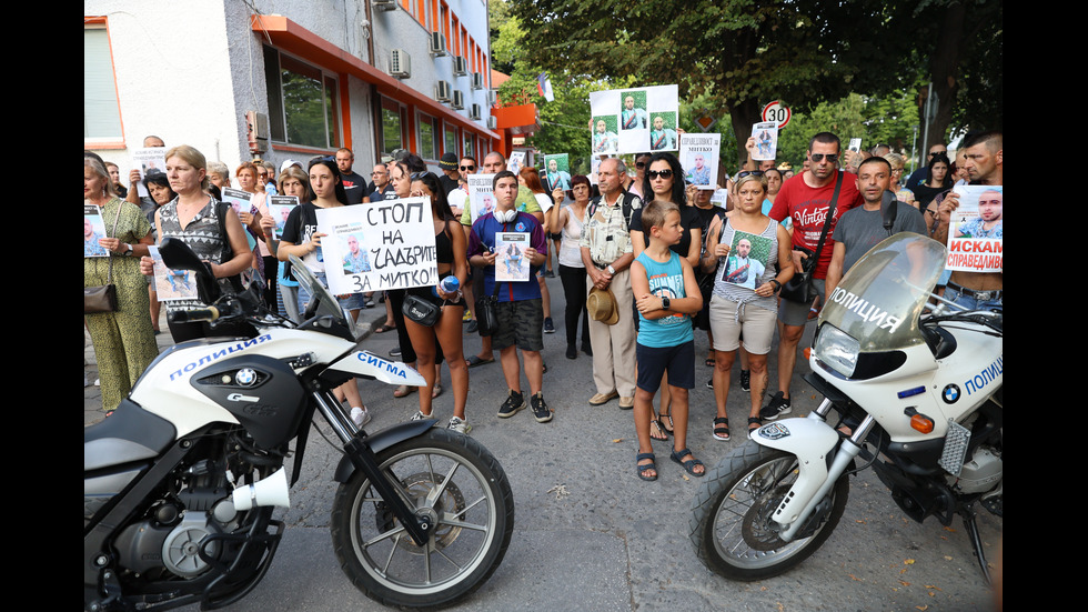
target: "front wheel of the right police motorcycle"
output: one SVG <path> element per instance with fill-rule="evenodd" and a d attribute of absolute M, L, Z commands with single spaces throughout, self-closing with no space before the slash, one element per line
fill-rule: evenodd
<path fill-rule="evenodd" d="M 813 534 L 785 542 L 770 516 L 797 475 L 796 457 L 753 441 L 723 459 L 692 502 L 689 536 L 703 563 L 725 578 L 753 581 L 816 552 L 843 516 L 849 482 L 844 474 L 832 488 L 830 511 Z"/>

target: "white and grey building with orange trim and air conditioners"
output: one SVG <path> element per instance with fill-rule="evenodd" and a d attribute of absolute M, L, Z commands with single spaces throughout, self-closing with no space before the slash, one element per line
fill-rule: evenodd
<path fill-rule="evenodd" d="M 486 0 L 84 0 L 83 148 L 127 172 L 155 134 L 231 169 L 503 149 Z"/>

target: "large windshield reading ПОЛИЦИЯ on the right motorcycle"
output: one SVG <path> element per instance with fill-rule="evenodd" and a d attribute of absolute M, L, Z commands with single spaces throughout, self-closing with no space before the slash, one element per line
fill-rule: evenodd
<path fill-rule="evenodd" d="M 819 323 L 830 323 L 862 352 L 925 342 L 918 319 L 945 267 L 945 247 L 916 233 L 897 233 L 862 257 L 827 297 Z"/>

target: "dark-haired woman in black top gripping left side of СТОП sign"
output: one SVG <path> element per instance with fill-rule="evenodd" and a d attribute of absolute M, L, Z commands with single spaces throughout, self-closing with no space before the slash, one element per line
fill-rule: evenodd
<path fill-rule="evenodd" d="M 329 287 L 325 281 L 325 260 L 321 251 L 321 239 L 325 237 L 325 233 L 318 231 L 318 209 L 343 207 L 347 203 L 347 193 L 344 191 L 344 183 L 340 180 L 340 169 L 336 167 L 336 162 L 329 159 L 311 162 L 310 188 L 313 190 L 314 199 L 312 202 L 300 202 L 291 211 L 288 222 L 283 227 L 283 235 L 275 257 L 280 261 L 288 261 L 290 255 L 295 255 L 302 260 L 322 284 Z M 359 317 L 359 311 L 363 308 L 362 293 L 352 293 L 338 297 L 338 299 L 340 305 L 346 309 L 353 319 Z M 304 284 L 300 283 L 299 312 L 306 311 L 306 302 L 309 301 L 310 292 Z M 347 402 L 352 407 L 351 417 L 359 427 L 370 421 L 366 407 L 363 405 L 363 400 L 359 395 L 355 379 L 338 387 L 338 399 L 341 399 L 341 393 L 347 398 Z"/>

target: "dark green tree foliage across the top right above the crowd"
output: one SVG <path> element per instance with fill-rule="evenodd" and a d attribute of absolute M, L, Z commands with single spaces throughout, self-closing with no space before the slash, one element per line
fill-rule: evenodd
<path fill-rule="evenodd" d="M 772 100 L 815 119 L 822 103 L 862 93 L 863 138 L 908 150 L 917 110 L 908 123 L 904 107 L 917 108 L 933 81 L 940 104 L 930 140 L 946 137 L 954 117 L 1000 124 L 999 0 L 507 0 L 505 9 L 527 24 L 526 61 L 676 83 L 682 101 L 729 116 L 738 157 Z"/>

